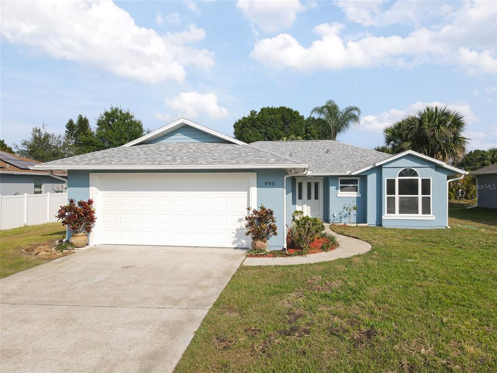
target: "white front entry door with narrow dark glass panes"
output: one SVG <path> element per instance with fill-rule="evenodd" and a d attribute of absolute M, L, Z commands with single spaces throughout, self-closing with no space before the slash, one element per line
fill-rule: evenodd
<path fill-rule="evenodd" d="M 323 219 L 323 179 L 297 179 L 297 210 Z"/>

